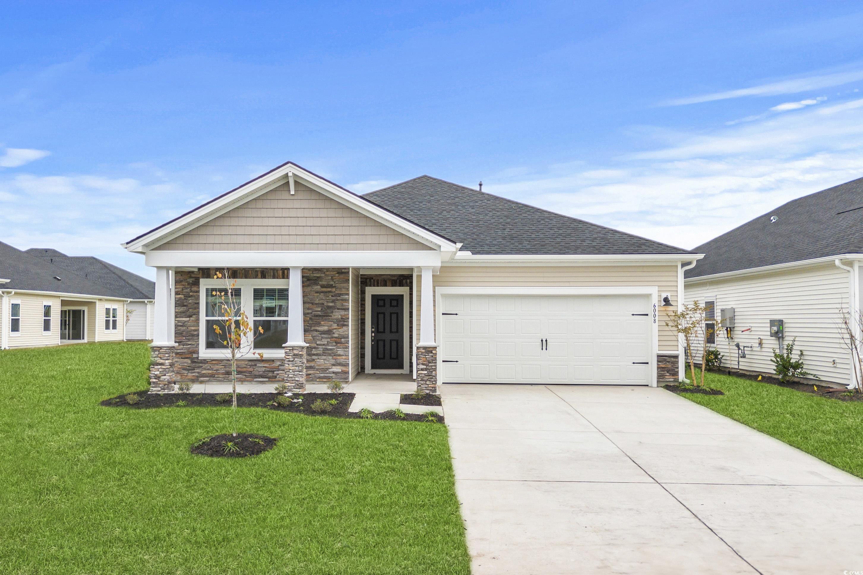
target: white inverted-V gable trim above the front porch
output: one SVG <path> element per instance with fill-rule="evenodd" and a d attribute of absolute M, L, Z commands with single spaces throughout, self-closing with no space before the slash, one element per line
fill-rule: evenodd
<path fill-rule="evenodd" d="M 185 234 L 192 228 L 197 228 L 201 224 L 211 221 L 213 218 L 221 216 L 230 209 L 234 209 L 242 203 L 246 203 L 255 197 L 261 196 L 274 189 L 276 186 L 283 184 L 293 176 L 293 179 L 299 179 L 304 184 L 308 185 L 314 191 L 324 194 L 339 203 L 355 209 L 357 212 L 369 216 L 377 222 L 381 222 L 389 228 L 394 228 L 401 234 L 413 238 L 426 246 L 440 249 L 444 252 L 457 252 L 458 247 L 452 241 L 444 237 L 434 234 L 425 228 L 420 228 L 413 222 L 407 221 L 405 218 L 396 216 L 386 209 L 376 206 L 357 197 L 349 191 L 339 188 L 335 184 L 331 184 L 317 174 L 307 171 L 306 169 L 288 162 L 284 166 L 280 166 L 272 172 L 255 178 L 248 184 L 231 191 L 224 197 L 219 197 L 217 200 L 207 203 L 198 209 L 192 210 L 185 216 L 180 216 L 173 222 L 169 222 L 161 228 L 154 229 L 148 234 L 142 235 L 140 238 L 135 238 L 123 244 L 129 252 L 147 253 L 154 247 L 158 247 L 166 241 L 170 241 L 178 235 Z"/>

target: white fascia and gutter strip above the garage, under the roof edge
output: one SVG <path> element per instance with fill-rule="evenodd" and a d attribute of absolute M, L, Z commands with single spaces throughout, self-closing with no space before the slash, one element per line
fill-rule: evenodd
<path fill-rule="evenodd" d="M 614 253 L 609 255 L 463 255 L 447 261 L 444 266 L 477 265 L 484 266 L 647 266 L 661 264 L 677 264 L 694 259 L 702 259 L 703 253 L 647 253 L 627 254 Z"/>

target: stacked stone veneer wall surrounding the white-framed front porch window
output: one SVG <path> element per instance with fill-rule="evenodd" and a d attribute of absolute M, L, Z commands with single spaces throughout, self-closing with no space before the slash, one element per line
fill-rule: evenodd
<path fill-rule="evenodd" d="M 176 272 L 174 278 L 173 374 L 177 382 L 225 381 L 230 378 L 230 360 L 201 359 L 200 279 L 212 278 L 215 270 Z M 287 279 L 287 268 L 236 269 L 237 279 Z M 303 270 L 303 308 L 305 309 L 307 381 L 347 381 L 350 376 L 350 271 L 347 268 L 308 268 Z M 287 347 L 285 348 L 288 349 Z M 287 352 L 286 352 L 287 357 Z M 155 364 L 154 364 L 155 365 Z M 237 381 L 287 381 L 286 359 L 239 359 Z M 151 369 L 151 380 L 153 370 Z"/>

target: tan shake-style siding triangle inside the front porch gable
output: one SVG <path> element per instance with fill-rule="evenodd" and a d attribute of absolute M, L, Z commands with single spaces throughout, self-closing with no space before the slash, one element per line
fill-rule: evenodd
<path fill-rule="evenodd" d="M 249 202 L 192 228 L 157 250 L 394 251 L 431 247 L 343 203 L 295 185 L 280 184 Z"/>

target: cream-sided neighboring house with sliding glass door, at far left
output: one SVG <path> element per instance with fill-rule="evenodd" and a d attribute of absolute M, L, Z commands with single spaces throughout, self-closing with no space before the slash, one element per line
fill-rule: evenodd
<path fill-rule="evenodd" d="M 0 242 L 0 349 L 153 339 L 154 283 L 101 259 Z"/>

